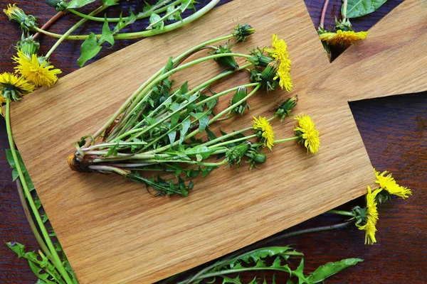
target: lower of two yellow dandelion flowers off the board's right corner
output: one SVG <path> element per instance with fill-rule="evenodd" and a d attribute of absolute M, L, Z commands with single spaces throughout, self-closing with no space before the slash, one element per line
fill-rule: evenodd
<path fill-rule="evenodd" d="M 365 231 L 365 244 L 374 244 L 376 243 L 375 232 L 376 232 L 376 222 L 378 221 L 378 210 L 376 209 L 376 195 L 381 192 L 381 189 L 374 190 L 372 192 L 371 187 L 368 186 L 367 194 L 367 222 L 364 225 L 356 224 L 359 230 Z"/>

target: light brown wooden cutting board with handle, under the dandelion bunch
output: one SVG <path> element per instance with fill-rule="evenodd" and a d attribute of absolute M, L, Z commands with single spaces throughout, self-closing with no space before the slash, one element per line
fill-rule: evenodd
<path fill-rule="evenodd" d="M 235 23 L 257 31 L 235 50 L 284 38 L 292 59 L 297 114 L 320 129 L 318 155 L 290 142 L 265 151 L 258 170 L 215 170 L 195 180 L 189 197 L 152 197 L 144 186 L 113 175 L 75 173 L 66 157 L 73 143 L 99 128 L 170 55 L 228 34 Z M 211 68 L 207 69 L 207 66 Z M 191 86 L 217 74 L 201 65 Z M 374 174 L 349 100 L 427 89 L 427 4 L 407 0 L 334 63 L 302 0 L 236 0 L 174 33 L 147 38 L 61 78 L 14 104 L 16 144 L 53 228 L 80 283 L 152 283 L 210 261 L 359 197 Z M 245 76 L 216 86 L 246 82 Z M 230 131 L 268 116 L 284 92 L 260 92 L 251 111 L 222 124 Z M 224 107 L 228 98 L 222 99 Z M 381 114 L 379 114 L 381 115 Z M 293 119 L 273 124 L 276 137 L 292 136 Z M 217 129 L 216 129 L 217 131 Z M 363 241 L 363 233 L 360 233 Z"/>

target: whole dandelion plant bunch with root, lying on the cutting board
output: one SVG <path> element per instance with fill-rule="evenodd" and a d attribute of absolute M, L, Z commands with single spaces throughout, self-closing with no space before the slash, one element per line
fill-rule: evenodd
<path fill-rule="evenodd" d="M 144 82 L 106 124 L 75 143 L 76 151 L 68 157 L 70 168 L 80 172 L 117 173 L 144 183 L 156 191 L 155 195 L 188 195 L 194 185 L 191 179 L 197 175 L 205 177 L 221 165 L 240 165 L 245 157 L 251 168 L 256 167 L 266 160 L 265 154 L 260 153 L 262 148 L 271 149 L 275 143 L 298 140 L 316 153 L 318 132 L 310 116 L 297 116 L 300 126 L 295 129 L 295 136 L 274 140 L 269 121 L 288 116 L 297 103 L 296 97 L 279 104 L 270 119 L 254 118 L 252 126 L 232 133 L 221 132 L 219 137 L 209 130 L 215 122 L 243 115 L 248 99 L 258 89 L 292 89 L 284 40 L 273 35 L 273 48 L 257 48 L 251 54 L 231 51 L 233 44 L 244 42 L 252 33 L 251 26 L 238 25 L 229 35 L 208 40 L 176 58 L 169 58 L 167 65 Z M 224 40 L 228 40 L 224 45 L 213 45 Z M 186 62 L 194 53 L 206 49 L 208 55 Z M 235 58 L 244 58 L 247 64 L 239 66 Z M 174 86 L 172 75 L 208 60 L 215 60 L 228 70 L 192 89 L 187 82 Z M 241 70 L 249 72 L 250 82 L 207 94 L 214 82 L 225 77 L 231 80 Z M 233 94 L 229 106 L 214 112 L 218 99 L 226 94 Z M 205 139 L 196 137 L 202 132 L 206 133 Z M 252 138 L 258 141 L 253 143 Z M 212 161 L 214 157 L 216 160 Z M 174 173 L 175 178 L 164 180 L 159 177 L 163 172 Z"/>

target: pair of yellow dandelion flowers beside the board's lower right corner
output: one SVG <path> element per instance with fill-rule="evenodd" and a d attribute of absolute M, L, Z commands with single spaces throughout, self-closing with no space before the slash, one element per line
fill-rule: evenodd
<path fill-rule="evenodd" d="M 376 176 L 376 183 L 379 184 L 379 188 L 376 190 L 371 190 L 368 187 L 367 193 L 367 213 L 366 213 L 366 222 L 364 225 L 356 224 L 360 230 L 365 231 L 365 244 L 374 244 L 376 243 L 375 232 L 376 232 L 376 222 L 378 221 L 378 209 L 377 209 L 377 197 L 382 192 L 387 192 L 389 195 L 396 195 L 403 199 L 412 195 L 411 189 L 408 187 L 403 187 L 398 185 L 396 180 L 391 176 L 391 173 L 384 171 L 379 173 L 374 169 Z"/>

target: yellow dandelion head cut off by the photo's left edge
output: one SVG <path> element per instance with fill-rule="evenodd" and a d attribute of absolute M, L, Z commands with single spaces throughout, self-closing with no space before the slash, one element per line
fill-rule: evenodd
<path fill-rule="evenodd" d="M 34 85 L 23 77 L 9 72 L 3 72 L 0 74 L 0 103 L 6 102 L 7 97 L 14 101 L 18 100 L 22 96 L 33 92 L 33 90 Z"/>

